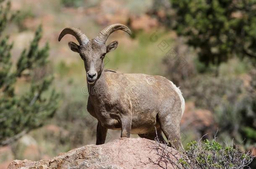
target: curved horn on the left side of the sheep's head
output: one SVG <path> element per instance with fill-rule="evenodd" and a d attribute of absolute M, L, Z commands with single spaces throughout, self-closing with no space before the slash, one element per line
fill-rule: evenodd
<path fill-rule="evenodd" d="M 65 36 L 66 34 L 70 34 L 76 37 L 76 40 L 79 42 L 80 45 L 85 45 L 89 39 L 87 38 L 84 33 L 81 32 L 81 30 L 76 28 L 65 28 L 61 31 L 59 35 L 59 41 Z"/>

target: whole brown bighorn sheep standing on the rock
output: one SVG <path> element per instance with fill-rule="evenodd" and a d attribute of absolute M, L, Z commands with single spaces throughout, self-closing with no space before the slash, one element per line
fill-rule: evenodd
<path fill-rule="evenodd" d="M 179 88 L 162 76 L 103 70 L 105 54 L 118 46 L 117 41 L 105 45 L 116 30 L 131 35 L 125 25 L 113 24 L 95 39 L 87 38 L 76 28 L 65 28 L 58 39 L 71 34 L 79 42 L 79 45 L 74 42 L 68 45 L 84 60 L 89 92 L 87 110 L 98 120 L 96 144 L 104 144 L 107 129 L 113 129 L 121 130 L 121 137 L 138 134 L 154 140 L 158 136 L 160 141 L 164 141 L 163 131 L 175 147 L 182 146 L 180 119 L 185 101 Z"/>

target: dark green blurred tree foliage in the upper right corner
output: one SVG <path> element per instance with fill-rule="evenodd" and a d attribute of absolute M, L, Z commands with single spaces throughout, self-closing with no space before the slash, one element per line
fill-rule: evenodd
<path fill-rule="evenodd" d="M 232 57 L 256 58 L 255 0 L 170 0 L 176 13 L 174 29 L 199 49 L 205 66 Z M 171 26 L 171 25 L 169 25 Z"/>

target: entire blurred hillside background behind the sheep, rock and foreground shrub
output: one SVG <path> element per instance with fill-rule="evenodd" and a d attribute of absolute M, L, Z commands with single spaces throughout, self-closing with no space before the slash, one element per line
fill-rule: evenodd
<path fill-rule="evenodd" d="M 84 63 L 65 27 L 89 38 L 113 23 L 105 68 L 165 76 L 186 101 L 183 145 L 212 138 L 256 148 L 255 0 L 0 0 L 0 169 L 96 142 Z M 120 137 L 108 131 L 107 142 Z M 138 137 L 132 135 L 132 137 Z M 253 152 L 254 156 L 256 151 Z M 252 166 L 255 165 L 252 164 Z"/>

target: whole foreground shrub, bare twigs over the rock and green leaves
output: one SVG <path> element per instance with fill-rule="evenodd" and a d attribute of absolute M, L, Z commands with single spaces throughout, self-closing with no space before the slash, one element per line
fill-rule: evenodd
<path fill-rule="evenodd" d="M 178 151 L 167 150 L 167 144 L 157 141 L 154 149 L 157 150 L 159 159 L 150 160 L 152 163 L 159 166 L 162 164 L 160 162 L 164 161 L 178 169 L 243 169 L 253 160 L 249 152 L 243 153 L 234 145 L 222 146 L 216 138 L 198 142 L 191 141 L 185 149 Z M 175 161 L 171 160 L 173 157 Z"/>

